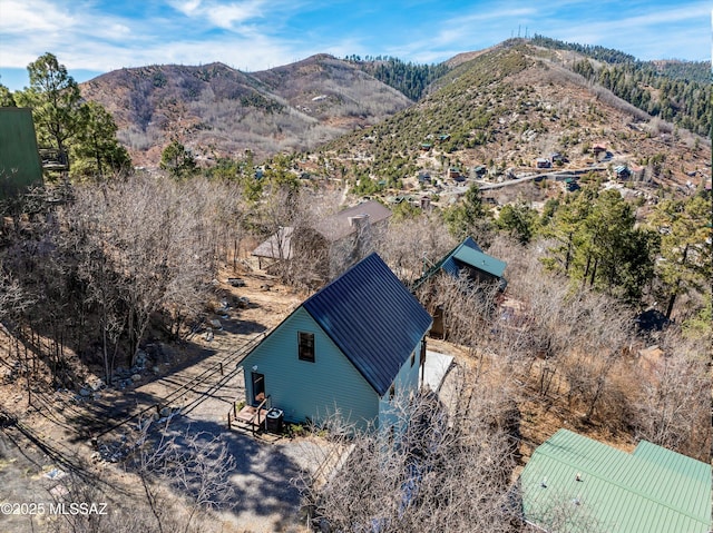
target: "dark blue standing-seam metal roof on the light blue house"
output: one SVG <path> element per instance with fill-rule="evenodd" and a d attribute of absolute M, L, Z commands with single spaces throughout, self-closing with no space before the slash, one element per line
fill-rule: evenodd
<path fill-rule="evenodd" d="M 428 312 L 377 254 L 302 306 L 380 396 L 432 324 Z"/>

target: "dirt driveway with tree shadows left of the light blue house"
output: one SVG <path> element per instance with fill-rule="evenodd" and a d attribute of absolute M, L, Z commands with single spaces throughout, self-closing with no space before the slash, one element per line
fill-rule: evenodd
<path fill-rule="evenodd" d="M 235 460 L 229 474 L 235 497 L 219 513 L 222 523 L 217 530 L 304 531 L 300 525 L 303 521 L 299 480 L 301 470 L 311 464 L 313 444 L 305 438 L 264 442 L 248 433 L 229 431 L 226 415 L 233 402 L 244 396 L 243 374 L 236 368 L 244 353 L 241 348 L 279 324 L 305 295 L 260 273 L 251 273 L 244 280 L 245 285 L 233 287 L 227 275 L 222 277 L 216 284 L 215 313 L 206 320 L 209 329 L 196 334 L 180 357 L 175 356 L 170 346 L 164 346 L 159 356 L 149 355 L 139 375 L 131 371 L 130 379 L 125 381 L 128 386 L 98 388 L 84 395 L 70 391 L 43 396 L 38 393 L 35 403 L 41 408 L 25 412 L 21 391 L 12 393 L 13 412 L 20 413 L 20 423 L 31 428 L 38 442 L 20 435 L 17 428 L 3 430 L 6 435 L 13 435 L 14 442 L 0 442 L 0 501 L 31 501 L 37 494 L 48 497 L 47 488 L 57 481 L 45 474 L 56 468 L 70 471 L 78 464 L 89 465 L 91 472 L 87 474 L 94 475 L 97 483 L 114 483 L 116 490 L 128 483 L 126 488 L 130 491 L 131 482 L 121 472 L 120 462 L 111 461 L 111 453 L 119 450 L 123 440 L 125 445 L 130 433 L 127 430 L 135 427 L 137 420 L 105 432 L 115 422 L 128 420 L 147 407 L 144 420 L 154 413 L 158 417 L 160 409 L 154 407 L 159 405 L 174 413 L 164 431 L 182 435 L 186 431 L 201 433 L 205 438 L 218 436 Z M 175 394 L 176 391 L 180 394 Z M 170 402 L 163 402 L 166 397 Z M 90 445 L 92 436 L 98 436 L 97 447 L 104 453 Z M 57 456 L 47 450 L 57 451 Z M 62 457 L 74 460 L 62 462 Z M 0 516 L 0 531 L 28 531 L 28 522 Z"/>

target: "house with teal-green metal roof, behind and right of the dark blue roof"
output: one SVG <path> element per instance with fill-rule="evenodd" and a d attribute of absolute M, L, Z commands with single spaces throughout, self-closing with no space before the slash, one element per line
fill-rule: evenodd
<path fill-rule="evenodd" d="M 502 293 L 507 287 L 506 267 L 507 263 L 484 253 L 472 237 L 467 237 L 426 270 L 413 283 L 411 290 L 416 293 L 433 280 L 436 276 L 445 274 L 456 279 L 465 278 L 469 282 L 469 287 L 473 289 L 482 289 L 490 286 L 498 293 Z M 443 316 L 442 302 L 439 302 L 438 294 L 433 294 L 429 299 L 427 307 L 433 316 L 431 334 L 443 336 L 446 334 L 446 317 Z"/>

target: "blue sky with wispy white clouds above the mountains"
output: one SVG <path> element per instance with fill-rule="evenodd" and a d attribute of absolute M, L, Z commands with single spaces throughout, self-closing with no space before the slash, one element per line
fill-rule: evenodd
<path fill-rule="evenodd" d="M 256 71 L 326 52 L 438 62 L 518 33 L 639 59 L 711 58 L 705 1 L 0 0 L 0 83 L 50 51 L 77 81 L 123 67 L 222 61 Z"/>

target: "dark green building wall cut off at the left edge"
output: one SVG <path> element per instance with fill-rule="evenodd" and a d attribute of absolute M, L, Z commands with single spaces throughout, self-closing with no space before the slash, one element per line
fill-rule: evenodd
<path fill-rule="evenodd" d="M 0 199 L 42 184 L 32 110 L 0 108 Z"/>

